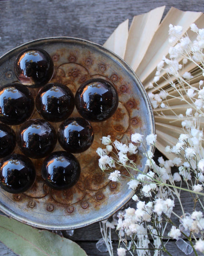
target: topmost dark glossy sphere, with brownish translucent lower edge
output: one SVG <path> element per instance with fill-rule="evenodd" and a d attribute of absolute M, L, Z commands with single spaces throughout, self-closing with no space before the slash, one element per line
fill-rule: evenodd
<path fill-rule="evenodd" d="M 15 61 L 15 75 L 19 82 L 33 88 L 43 86 L 51 80 L 54 64 L 45 50 L 26 49 Z"/>

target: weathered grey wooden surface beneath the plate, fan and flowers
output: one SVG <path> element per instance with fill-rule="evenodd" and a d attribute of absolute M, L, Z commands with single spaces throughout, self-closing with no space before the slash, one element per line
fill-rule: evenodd
<path fill-rule="evenodd" d="M 0 0 L 0 56 L 30 40 L 72 36 L 103 44 L 122 21 L 166 5 L 165 14 L 174 6 L 180 10 L 204 11 L 203 0 Z M 182 194 L 185 197 L 186 193 Z M 185 201 L 185 209 L 193 205 Z M 179 213 L 179 205 L 175 206 Z M 65 233 L 63 232 L 65 235 Z M 76 241 L 89 256 L 107 256 L 96 249 L 101 238 L 99 224 L 74 231 L 68 238 Z M 113 239 L 117 235 L 113 232 Z M 175 241 L 168 245 L 173 256 L 184 255 Z M 114 243 L 116 255 L 117 243 Z M 0 256 L 15 254 L 0 243 Z M 194 255 L 194 253 L 192 253 Z M 201 254 L 199 254 L 201 255 Z"/>

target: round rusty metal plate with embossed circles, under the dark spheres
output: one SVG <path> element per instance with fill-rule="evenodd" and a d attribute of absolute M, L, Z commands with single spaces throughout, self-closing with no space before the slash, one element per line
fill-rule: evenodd
<path fill-rule="evenodd" d="M 67 85 L 75 94 L 85 80 L 103 78 L 112 82 L 119 95 L 116 113 L 101 123 L 92 123 L 94 141 L 81 154 L 75 154 L 81 165 L 78 183 L 66 191 L 55 191 L 44 184 L 40 169 L 44 159 L 34 162 L 37 179 L 29 191 L 13 195 L 0 189 L 0 210 L 7 215 L 39 228 L 52 230 L 74 229 L 106 219 L 132 196 L 127 179 L 121 182 L 108 180 L 108 174 L 98 167 L 97 147 L 102 136 L 111 135 L 128 143 L 132 133 L 144 136 L 154 132 L 154 118 L 149 99 L 134 72 L 118 56 L 100 45 L 68 38 L 48 38 L 35 40 L 11 50 L 0 58 L 0 85 L 16 82 L 14 62 L 20 51 L 34 47 L 46 50 L 54 61 L 52 82 Z M 36 95 L 38 89 L 30 89 Z M 74 109 L 71 116 L 79 116 Z M 36 110 L 31 118 L 41 118 Z M 56 131 L 60 123 L 52 123 Z M 18 131 L 19 125 L 12 126 Z M 54 151 L 62 150 L 59 144 Z M 16 146 L 15 152 L 20 153 Z M 146 159 L 142 155 L 132 156 L 142 171 L 146 171 Z M 126 175 L 125 170 L 120 170 Z M 134 174 L 136 175 L 136 173 Z"/>

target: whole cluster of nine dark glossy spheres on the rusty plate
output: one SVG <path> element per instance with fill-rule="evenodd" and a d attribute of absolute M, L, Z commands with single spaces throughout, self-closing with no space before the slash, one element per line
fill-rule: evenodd
<path fill-rule="evenodd" d="M 22 193 L 33 186 L 36 173 L 30 160 L 44 158 L 41 174 L 52 189 L 75 185 L 81 168 L 73 154 L 86 151 L 93 142 L 92 122 L 102 122 L 117 109 L 118 95 L 107 80 L 91 79 L 75 96 L 66 86 L 49 83 L 53 60 L 42 49 L 26 49 L 15 61 L 19 83 L 0 86 L 0 186 Z M 31 88 L 39 88 L 35 99 Z M 70 117 L 76 106 L 81 117 Z M 34 107 L 41 119 L 30 119 Z M 61 122 L 58 133 L 49 122 Z M 17 134 L 10 125 L 21 125 Z M 53 152 L 57 143 L 64 151 Z M 16 143 L 22 154 L 12 154 Z"/>

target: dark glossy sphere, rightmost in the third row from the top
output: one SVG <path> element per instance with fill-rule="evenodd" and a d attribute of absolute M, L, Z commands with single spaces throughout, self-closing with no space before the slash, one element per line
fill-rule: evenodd
<path fill-rule="evenodd" d="M 70 153 L 87 150 L 92 145 L 93 138 L 91 124 L 82 117 L 70 117 L 58 129 L 59 144 Z"/>

